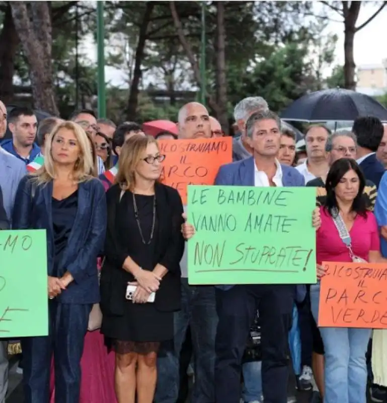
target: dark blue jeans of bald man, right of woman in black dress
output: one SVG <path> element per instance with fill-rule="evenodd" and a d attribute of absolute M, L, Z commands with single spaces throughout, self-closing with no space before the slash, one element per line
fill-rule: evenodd
<path fill-rule="evenodd" d="M 182 307 L 175 313 L 175 338 L 172 351 L 158 359 L 155 403 L 176 403 L 179 393 L 179 357 L 188 325 L 191 327 L 195 383 L 191 403 L 215 401 L 215 334 L 217 315 L 213 286 L 189 286 L 182 278 Z"/>

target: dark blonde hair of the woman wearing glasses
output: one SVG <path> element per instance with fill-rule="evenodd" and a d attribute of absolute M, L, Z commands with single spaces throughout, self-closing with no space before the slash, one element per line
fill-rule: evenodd
<path fill-rule="evenodd" d="M 122 146 L 115 179 L 115 183 L 118 183 L 122 190 L 133 190 L 136 166 L 141 160 L 141 154 L 149 144 L 156 144 L 159 148 L 157 141 L 153 137 L 141 135 L 130 137 Z"/>

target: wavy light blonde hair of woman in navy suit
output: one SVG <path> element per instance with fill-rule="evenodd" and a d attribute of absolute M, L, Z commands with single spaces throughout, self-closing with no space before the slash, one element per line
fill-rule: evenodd
<path fill-rule="evenodd" d="M 80 147 L 80 155 L 73 167 L 74 181 L 81 183 L 92 178 L 94 170 L 93 157 L 90 151 L 90 141 L 85 130 L 77 123 L 65 120 L 59 122 L 49 134 L 44 149 L 44 165 L 36 171 L 38 183 L 47 183 L 55 178 L 55 162 L 52 158 L 52 143 L 58 131 L 61 129 L 71 130 Z"/>

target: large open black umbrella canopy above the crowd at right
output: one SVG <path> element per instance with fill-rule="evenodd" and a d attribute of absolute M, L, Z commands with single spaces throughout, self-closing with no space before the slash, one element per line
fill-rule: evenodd
<path fill-rule="evenodd" d="M 281 113 L 281 119 L 306 122 L 355 120 L 358 116 L 387 121 L 387 109 L 368 95 L 337 88 L 306 94 Z"/>

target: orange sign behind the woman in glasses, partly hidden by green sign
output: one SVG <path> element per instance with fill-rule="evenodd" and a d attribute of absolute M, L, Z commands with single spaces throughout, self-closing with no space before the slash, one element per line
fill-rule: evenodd
<path fill-rule="evenodd" d="M 213 185 L 221 165 L 233 161 L 230 137 L 194 140 L 160 140 L 161 181 L 177 189 L 187 205 L 188 185 Z"/>

